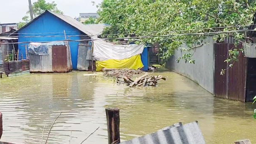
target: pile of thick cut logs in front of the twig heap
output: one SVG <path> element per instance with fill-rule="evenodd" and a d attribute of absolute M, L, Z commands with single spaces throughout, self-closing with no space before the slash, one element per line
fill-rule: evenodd
<path fill-rule="evenodd" d="M 133 86 L 156 86 L 157 81 L 162 79 L 166 80 L 167 76 L 149 76 L 148 74 L 144 74 L 143 76 L 138 77 L 135 80 L 132 80 L 130 77 L 127 76 L 116 76 L 117 83 L 125 83 L 130 87 Z"/>

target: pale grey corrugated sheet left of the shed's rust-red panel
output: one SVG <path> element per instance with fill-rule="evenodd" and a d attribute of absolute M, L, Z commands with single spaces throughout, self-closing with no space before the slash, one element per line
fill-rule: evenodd
<path fill-rule="evenodd" d="M 48 49 L 48 55 L 29 55 L 30 72 L 53 72 L 52 48 Z"/>

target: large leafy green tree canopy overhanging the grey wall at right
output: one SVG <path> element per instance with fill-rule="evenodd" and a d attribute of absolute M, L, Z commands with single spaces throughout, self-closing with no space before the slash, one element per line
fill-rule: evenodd
<path fill-rule="evenodd" d="M 186 55 L 179 60 L 189 63 L 195 62 L 190 51 L 207 36 L 198 33 L 222 32 L 212 35 L 217 42 L 232 36 L 238 44 L 247 35 L 236 30 L 248 27 L 234 26 L 253 24 L 255 12 L 255 0 L 103 0 L 99 5 L 100 21 L 110 24 L 103 37 L 134 37 L 130 40 L 137 43 L 159 43 L 163 60 L 181 44 L 187 44 L 188 48 L 182 49 Z M 230 50 L 227 62 L 236 61 L 242 51 Z"/>

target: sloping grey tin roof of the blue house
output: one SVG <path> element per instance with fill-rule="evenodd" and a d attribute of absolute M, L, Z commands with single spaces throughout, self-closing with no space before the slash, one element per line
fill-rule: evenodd
<path fill-rule="evenodd" d="M 48 10 L 46 10 L 44 13 L 46 13 L 46 12 L 50 12 L 54 16 L 60 18 L 61 20 L 65 21 L 66 23 L 70 24 L 71 26 L 77 28 L 78 30 L 80 30 L 81 32 L 83 32 L 84 34 L 86 34 L 88 36 L 98 36 L 98 35 L 100 35 L 102 33 L 103 29 L 107 26 L 106 24 L 84 25 L 81 22 L 71 18 L 70 16 L 63 15 L 63 14 L 56 13 L 56 12 L 51 12 L 51 11 L 48 11 Z M 30 23 L 32 23 L 33 21 L 35 21 L 36 19 L 38 19 L 39 17 L 44 15 L 44 13 L 42 13 L 41 15 L 36 17 L 35 19 L 31 20 L 29 23 L 27 23 L 22 28 L 25 28 L 26 26 L 28 26 Z M 22 29 L 22 28 L 20 28 L 20 29 Z M 15 33 L 17 33 L 20 29 L 18 29 Z"/>

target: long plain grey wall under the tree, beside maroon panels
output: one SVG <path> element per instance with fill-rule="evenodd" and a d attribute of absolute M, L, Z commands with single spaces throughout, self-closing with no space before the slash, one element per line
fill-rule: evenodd
<path fill-rule="evenodd" d="M 190 78 L 213 94 L 215 64 L 213 43 L 212 37 L 208 37 L 204 39 L 203 46 L 194 49 L 195 53 L 194 50 L 191 51 L 191 53 L 194 53 L 195 64 L 185 63 L 183 60 L 178 63 L 176 60 L 182 57 L 184 52 L 176 50 L 175 54 L 166 62 L 166 68 Z M 186 48 L 185 45 L 183 47 Z"/>

